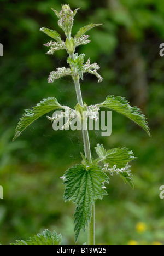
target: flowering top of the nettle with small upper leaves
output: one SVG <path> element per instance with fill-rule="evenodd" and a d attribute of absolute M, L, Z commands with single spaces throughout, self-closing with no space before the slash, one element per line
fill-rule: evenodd
<path fill-rule="evenodd" d="M 80 9 L 80 8 L 78 8 Z M 98 78 L 98 83 L 102 82 L 102 77 L 97 73 L 99 70 L 99 65 L 97 63 L 90 63 L 90 59 L 84 64 L 84 56 L 85 54 L 78 53 L 74 54 L 75 48 L 79 45 L 85 45 L 90 43 L 91 41 L 88 39 L 85 33 L 87 30 L 91 28 L 101 25 L 101 24 L 89 24 L 77 32 L 74 38 L 71 37 L 72 26 L 74 21 L 74 16 L 77 14 L 78 9 L 72 11 L 69 7 L 69 4 L 62 5 L 62 10 L 60 13 L 58 11 L 52 9 L 56 16 L 58 17 L 58 25 L 65 31 L 66 34 L 66 42 L 62 41 L 60 34 L 58 34 L 54 30 L 49 30 L 48 28 L 40 28 L 40 31 L 44 32 L 51 38 L 54 38 L 57 42 L 48 42 L 44 44 L 44 46 L 50 47 L 46 54 L 52 55 L 54 51 L 65 49 L 69 54 L 67 59 L 67 63 L 70 65 L 70 68 L 57 68 L 57 71 L 52 71 L 49 75 L 48 82 L 53 83 L 55 79 L 65 77 L 67 75 L 71 75 L 72 77 L 79 77 L 83 80 L 84 73 L 90 73 L 96 75 Z M 94 116 L 94 115 L 93 115 Z M 96 118 L 96 117 L 95 117 Z"/>

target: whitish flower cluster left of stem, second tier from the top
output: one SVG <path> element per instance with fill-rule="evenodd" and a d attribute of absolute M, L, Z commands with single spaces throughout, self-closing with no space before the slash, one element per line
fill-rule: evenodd
<path fill-rule="evenodd" d="M 57 68 L 57 71 L 52 71 L 49 74 L 48 82 L 53 83 L 55 79 L 66 77 L 67 75 L 72 76 L 72 71 L 70 68 L 66 68 L 66 67 Z"/>

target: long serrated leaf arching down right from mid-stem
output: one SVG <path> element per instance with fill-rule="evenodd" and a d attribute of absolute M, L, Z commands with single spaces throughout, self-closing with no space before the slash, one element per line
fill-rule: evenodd
<path fill-rule="evenodd" d="M 134 121 L 136 124 L 141 126 L 150 136 L 150 129 L 147 125 L 147 118 L 142 114 L 142 111 L 139 108 L 131 107 L 129 102 L 125 100 L 124 97 L 108 96 L 103 103 L 97 104 L 96 106 L 106 107 L 115 110 L 120 114 L 125 115 L 126 117 Z"/>

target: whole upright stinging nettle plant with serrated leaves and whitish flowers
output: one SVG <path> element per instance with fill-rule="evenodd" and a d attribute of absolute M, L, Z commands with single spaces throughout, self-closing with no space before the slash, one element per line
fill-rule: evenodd
<path fill-rule="evenodd" d="M 86 32 L 91 28 L 102 24 L 89 24 L 85 27 L 81 27 L 77 34 L 72 37 L 71 34 L 74 16 L 77 14 L 78 9 L 72 11 L 69 5 L 62 5 L 60 13 L 52 9 L 58 18 L 59 27 L 65 32 L 65 42 L 56 31 L 49 30 L 44 27 L 40 28 L 40 31 L 55 40 L 54 42 L 51 40 L 47 44 L 44 44 L 50 48 L 47 54 L 52 55 L 57 50 L 66 50 L 69 55 L 67 59 L 69 67 L 57 68 L 56 71 L 52 71 L 49 75 L 48 82 L 53 83 L 55 79 L 71 76 L 74 81 L 78 103 L 74 109 L 71 109 L 68 106 L 62 106 L 54 97 L 40 101 L 40 103 L 33 107 L 32 110 L 25 110 L 25 114 L 20 119 L 19 124 L 16 127 L 14 140 L 26 129 L 28 125 L 32 124 L 33 121 L 56 109 L 62 109 L 61 115 L 55 115 L 55 117 L 52 118 L 48 117 L 51 121 L 56 121 L 61 117 L 66 117 L 66 113 L 70 114 L 70 118 L 63 126 L 63 129 L 66 129 L 75 117 L 79 117 L 82 126 L 81 130 L 83 133 L 85 155 L 81 153 L 82 162 L 72 168 L 69 168 L 61 178 L 63 179 L 63 184 L 65 184 L 65 201 L 72 200 L 76 205 L 74 214 L 75 242 L 78 240 L 80 230 L 82 229 L 85 231 L 87 227 L 87 245 L 95 245 L 95 201 L 97 199 L 102 199 L 104 195 L 107 195 L 105 183 L 109 182 L 110 175 L 118 174 L 122 177 L 125 183 L 130 184 L 131 187 L 134 188 L 131 166 L 129 163 L 134 160 L 135 157 L 133 152 L 127 148 L 106 150 L 103 145 L 97 144 L 95 150 L 98 157 L 97 159 L 93 159 L 91 156 L 87 120 L 89 118 L 97 120 L 97 113 L 99 109 L 107 108 L 121 113 L 131 119 L 141 126 L 149 136 L 150 133 L 147 120 L 141 110 L 137 107 L 131 107 L 128 101 L 123 97 L 107 96 L 104 102 L 94 104 L 92 106 L 87 106 L 86 103 L 83 103 L 80 90 L 80 80 L 83 80 L 84 73 L 96 75 L 98 83 L 102 82 L 103 79 L 101 75 L 97 73 L 99 69 L 98 64 L 91 64 L 90 59 L 85 63 L 85 54 L 79 55 L 78 53 L 75 53 L 75 50 L 79 45 L 90 43 L 91 41 L 89 40 L 89 36 L 86 35 Z M 44 240 L 46 239 L 46 232 L 48 231 L 44 231 Z M 56 233 L 54 234 L 54 236 L 58 237 Z M 52 234 L 49 235 L 53 237 Z M 40 236 L 41 235 L 37 236 L 37 239 L 35 239 L 38 240 L 38 237 Z M 60 240 L 61 237 L 58 238 L 58 241 Z M 26 242 L 17 242 L 17 244 L 20 243 Z M 27 243 L 29 244 L 30 242 L 28 241 Z"/>

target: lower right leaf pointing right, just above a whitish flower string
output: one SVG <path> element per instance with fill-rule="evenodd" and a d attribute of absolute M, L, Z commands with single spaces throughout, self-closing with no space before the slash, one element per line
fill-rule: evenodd
<path fill-rule="evenodd" d="M 95 149 L 101 161 L 110 167 L 116 165 L 117 168 L 124 168 L 128 162 L 136 159 L 133 152 L 127 148 L 113 148 L 107 151 L 103 145 L 98 144 Z"/>

